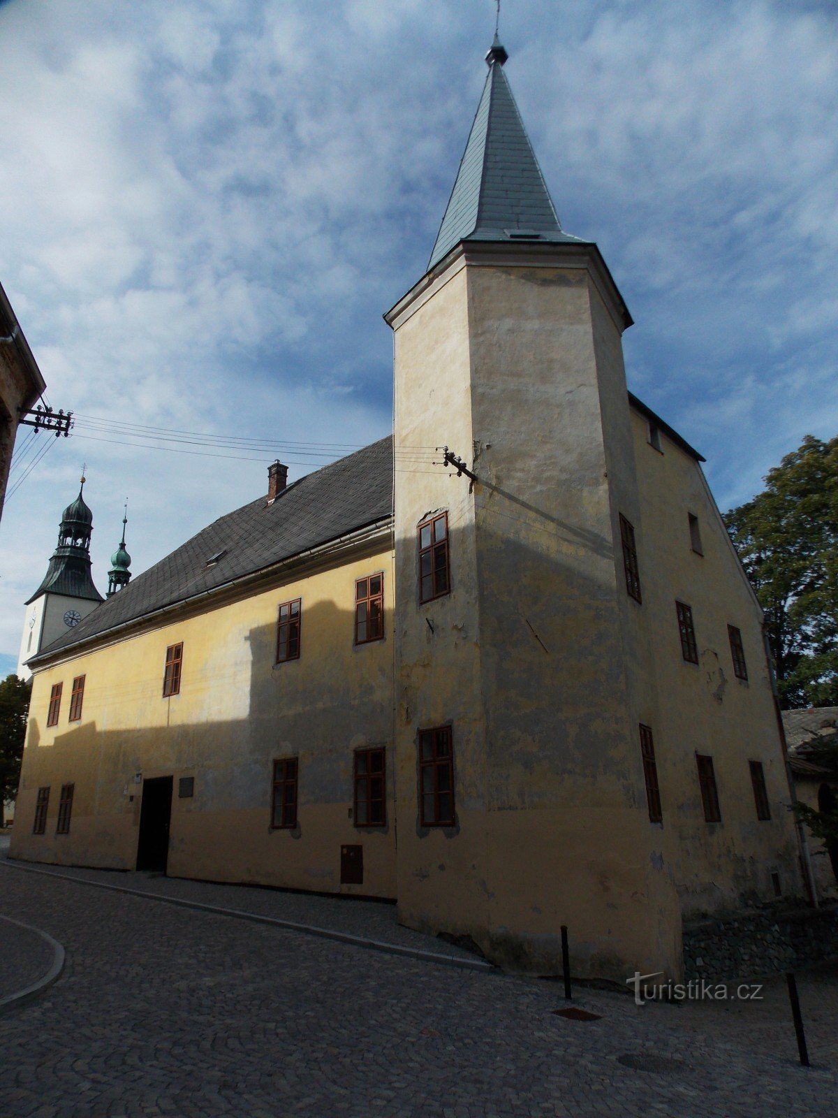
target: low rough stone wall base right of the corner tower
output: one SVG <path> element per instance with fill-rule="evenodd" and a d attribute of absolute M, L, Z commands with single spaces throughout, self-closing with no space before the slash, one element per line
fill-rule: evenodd
<path fill-rule="evenodd" d="M 759 978 L 838 957 L 838 906 L 775 906 L 684 927 L 685 980 Z"/>

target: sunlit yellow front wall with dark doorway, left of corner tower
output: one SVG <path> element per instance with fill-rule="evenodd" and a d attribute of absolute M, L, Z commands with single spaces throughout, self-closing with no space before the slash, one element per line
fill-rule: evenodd
<path fill-rule="evenodd" d="M 385 636 L 353 645 L 354 580 L 384 571 Z M 302 655 L 274 665 L 277 608 L 302 597 Z M 169 873 L 298 889 L 396 896 L 391 552 L 366 549 L 332 570 L 78 655 L 35 674 L 11 856 L 133 869 L 143 779 L 174 777 Z M 193 607 L 194 609 L 194 607 Z M 183 642 L 178 695 L 162 698 L 165 650 Z M 83 718 L 68 722 L 73 676 Z M 64 682 L 57 727 L 53 683 Z M 388 750 L 388 824 L 356 828 L 353 750 Z M 299 757 L 298 825 L 270 830 L 274 758 Z M 194 797 L 178 797 L 181 776 Z M 70 833 L 57 835 L 60 785 L 75 783 Z M 31 834 L 50 786 L 46 833 Z M 133 799 L 132 799 L 133 797 Z M 342 843 L 363 845 L 363 885 L 341 885 Z"/>

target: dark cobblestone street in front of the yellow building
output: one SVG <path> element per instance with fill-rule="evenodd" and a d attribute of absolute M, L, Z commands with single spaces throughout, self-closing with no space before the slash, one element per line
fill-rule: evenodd
<path fill-rule="evenodd" d="M 161 888 L 228 907 L 238 892 Z M 284 896 L 241 890 L 256 892 L 265 904 Z M 735 1007 L 638 1008 L 579 989 L 573 1004 L 602 1016 L 571 1021 L 552 1012 L 565 1004 L 553 982 L 364 950 L 4 862 L 0 898 L 0 912 L 67 951 L 54 986 L 0 1016 L 2 1118 L 835 1112 L 835 968 L 801 982 L 815 1064 L 802 1069 L 777 985 L 761 1005 Z M 293 899 L 299 913 L 307 900 Z M 322 899 L 311 900 L 323 922 Z M 394 923 L 391 907 L 361 908 L 379 936 Z M 356 909 L 347 913 L 360 927 Z M 619 1059 L 636 1055 L 658 1070 Z"/>

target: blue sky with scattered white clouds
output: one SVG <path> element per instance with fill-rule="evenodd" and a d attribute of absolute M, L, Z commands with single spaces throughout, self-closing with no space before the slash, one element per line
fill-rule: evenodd
<path fill-rule="evenodd" d="M 18 436 L 0 673 L 83 463 L 104 593 L 126 499 L 137 574 L 264 493 L 275 457 L 294 479 L 390 432 L 381 315 L 427 266 L 494 20 L 494 0 L 0 0 L 0 282 L 77 417 Z M 629 388 L 723 510 L 747 500 L 838 433 L 838 6 L 503 0 L 501 38 L 562 226 L 635 319 Z M 204 437 L 150 437 L 173 430 Z"/>

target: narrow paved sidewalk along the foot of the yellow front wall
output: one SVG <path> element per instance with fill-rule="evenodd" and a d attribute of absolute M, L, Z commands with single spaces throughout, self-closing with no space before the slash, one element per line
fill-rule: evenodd
<path fill-rule="evenodd" d="M 8 851 L 0 843 L 0 864 Z M 316 897 L 312 893 L 293 893 L 278 889 L 259 889 L 250 885 L 225 885 L 179 878 L 162 878 L 149 873 L 114 870 L 87 870 L 72 866 L 45 865 L 36 862 L 9 861 L 9 872 L 48 871 L 50 874 L 89 882 L 95 885 L 117 887 L 147 896 L 236 909 L 254 916 L 283 920 L 312 929 L 323 929 L 336 935 L 353 936 L 371 942 L 390 945 L 403 951 L 423 951 L 442 956 L 451 961 L 474 965 L 478 956 L 447 944 L 444 939 L 425 936 L 409 928 L 401 928 L 396 918 L 396 906 L 385 901 L 354 900 L 350 897 Z M 46 875 L 46 874 L 42 874 Z M 35 874 L 32 873 L 32 877 Z"/>

